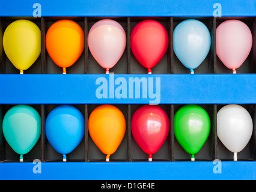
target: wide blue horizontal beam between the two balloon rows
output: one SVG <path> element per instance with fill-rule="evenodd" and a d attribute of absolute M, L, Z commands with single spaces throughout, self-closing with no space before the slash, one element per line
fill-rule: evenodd
<path fill-rule="evenodd" d="M 256 74 L 0 74 L 0 104 L 255 104 Z"/>

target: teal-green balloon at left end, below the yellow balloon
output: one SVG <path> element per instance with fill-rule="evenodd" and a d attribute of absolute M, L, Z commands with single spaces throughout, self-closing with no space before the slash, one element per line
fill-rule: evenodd
<path fill-rule="evenodd" d="M 13 151 L 22 155 L 28 153 L 41 135 L 41 118 L 31 106 L 17 105 L 11 107 L 2 122 L 2 131 Z"/>

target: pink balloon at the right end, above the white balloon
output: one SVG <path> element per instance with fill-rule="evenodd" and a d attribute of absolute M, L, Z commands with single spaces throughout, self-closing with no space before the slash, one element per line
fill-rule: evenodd
<path fill-rule="evenodd" d="M 227 20 L 216 29 L 216 53 L 236 73 L 252 49 L 252 33 L 240 20 Z"/>

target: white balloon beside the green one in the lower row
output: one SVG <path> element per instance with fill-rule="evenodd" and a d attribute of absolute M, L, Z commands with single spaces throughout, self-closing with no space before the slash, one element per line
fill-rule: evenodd
<path fill-rule="evenodd" d="M 242 106 L 229 104 L 217 113 L 217 135 L 225 147 L 234 152 L 234 161 L 237 161 L 237 152 L 251 139 L 252 129 L 251 115 Z"/>

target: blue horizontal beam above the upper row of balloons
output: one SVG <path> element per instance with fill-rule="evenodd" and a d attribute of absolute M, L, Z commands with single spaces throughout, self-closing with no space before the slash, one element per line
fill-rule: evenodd
<path fill-rule="evenodd" d="M 35 4 L 37 3 L 37 4 Z M 218 5 L 216 5 L 218 3 Z M 35 5 L 34 5 L 35 4 Z M 256 1 L 247 0 L 9 0 L 0 1 L 0 16 L 33 16 L 40 4 L 41 16 L 256 16 Z M 34 8 L 33 8 L 34 5 Z M 216 10 L 219 8 L 219 10 Z M 221 8 L 221 9 L 220 9 Z M 217 11 L 219 11 L 217 13 Z M 34 13 L 36 16 L 39 14 Z M 220 16 L 220 15 L 219 15 Z"/>

